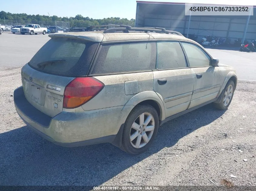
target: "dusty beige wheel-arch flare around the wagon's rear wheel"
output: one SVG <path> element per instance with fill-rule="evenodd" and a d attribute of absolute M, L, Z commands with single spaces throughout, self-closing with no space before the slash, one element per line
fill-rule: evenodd
<path fill-rule="evenodd" d="M 160 99 L 158 94 L 154 91 L 143 91 L 141 93 L 136 94 L 125 104 L 125 106 L 133 105 L 135 107 L 140 102 L 145 101 L 145 100 L 153 100 L 158 104 L 158 107 L 160 108 L 159 120 L 164 120 L 165 119 L 165 107 L 164 107 L 163 101 Z"/>

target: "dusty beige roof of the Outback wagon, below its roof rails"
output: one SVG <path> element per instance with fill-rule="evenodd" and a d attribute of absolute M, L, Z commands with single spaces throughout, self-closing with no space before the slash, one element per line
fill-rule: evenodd
<path fill-rule="evenodd" d="M 54 33 L 49 34 L 51 38 L 72 38 L 79 40 L 88 40 L 92 42 L 109 42 L 119 40 L 148 40 L 148 39 L 170 39 L 170 40 L 188 40 L 183 36 L 176 34 L 164 33 L 143 33 L 143 32 L 130 32 L 130 33 L 103 33 L 103 31 L 88 31 L 88 32 L 67 32 L 67 33 Z"/>

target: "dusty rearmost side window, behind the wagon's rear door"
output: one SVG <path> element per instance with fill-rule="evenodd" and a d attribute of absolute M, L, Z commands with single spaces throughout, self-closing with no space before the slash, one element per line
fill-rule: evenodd
<path fill-rule="evenodd" d="M 91 74 L 155 69 L 155 43 L 103 45 Z"/>

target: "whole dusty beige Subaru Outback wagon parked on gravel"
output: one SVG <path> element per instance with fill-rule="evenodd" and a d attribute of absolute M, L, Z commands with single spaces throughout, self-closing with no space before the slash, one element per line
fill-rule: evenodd
<path fill-rule="evenodd" d="M 163 123 L 208 103 L 226 110 L 237 85 L 232 67 L 179 32 L 120 26 L 49 37 L 22 67 L 14 103 L 57 145 L 110 142 L 140 154 Z"/>

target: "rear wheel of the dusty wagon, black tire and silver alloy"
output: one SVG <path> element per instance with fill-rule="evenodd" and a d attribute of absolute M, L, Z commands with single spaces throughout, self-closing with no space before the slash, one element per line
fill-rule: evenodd
<path fill-rule="evenodd" d="M 141 114 L 144 114 L 144 117 Z M 143 117 L 143 119 L 140 117 Z M 142 119 L 143 122 L 140 122 L 140 119 Z M 145 126 L 142 125 L 143 123 L 145 124 L 146 119 L 150 119 L 148 124 L 145 125 L 146 127 L 148 127 L 148 131 L 145 128 Z M 132 125 L 134 128 L 132 128 Z M 154 139 L 158 132 L 158 126 L 159 126 L 158 113 L 154 107 L 152 107 L 151 105 L 136 106 L 128 115 L 125 121 L 121 150 L 132 155 L 141 154 L 145 152 L 154 142 Z M 133 137 L 133 140 L 130 141 L 130 138 L 132 137 Z M 147 140 L 148 142 L 145 140 Z"/>

